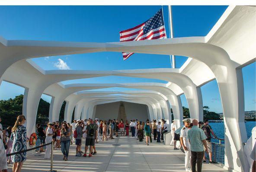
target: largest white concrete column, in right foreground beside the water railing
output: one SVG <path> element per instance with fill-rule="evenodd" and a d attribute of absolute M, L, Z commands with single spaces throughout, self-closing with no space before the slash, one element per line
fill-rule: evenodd
<path fill-rule="evenodd" d="M 220 89 L 225 125 L 225 166 L 243 172 L 243 142 L 247 135 L 244 123 L 242 69 L 219 67 L 216 80 Z"/>

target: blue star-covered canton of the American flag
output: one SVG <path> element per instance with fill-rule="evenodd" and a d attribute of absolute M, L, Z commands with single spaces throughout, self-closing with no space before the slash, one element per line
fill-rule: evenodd
<path fill-rule="evenodd" d="M 153 17 L 151 17 L 143 27 L 143 34 L 147 34 L 152 29 L 159 28 L 163 26 L 163 12 L 160 9 Z"/>

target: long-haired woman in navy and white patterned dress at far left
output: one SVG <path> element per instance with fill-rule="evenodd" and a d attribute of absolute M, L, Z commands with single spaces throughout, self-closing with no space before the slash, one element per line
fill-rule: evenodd
<path fill-rule="evenodd" d="M 27 149 L 27 142 L 29 138 L 27 137 L 26 127 L 23 126 L 26 122 L 24 115 L 19 115 L 13 126 L 12 134 L 10 140 L 13 141 L 11 153 L 25 151 Z M 12 155 L 13 161 L 13 172 L 20 172 L 23 162 L 26 161 L 26 152 Z"/>

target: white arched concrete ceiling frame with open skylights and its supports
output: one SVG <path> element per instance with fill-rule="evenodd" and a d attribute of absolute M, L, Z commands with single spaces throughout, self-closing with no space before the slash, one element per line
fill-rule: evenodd
<path fill-rule="evenodd" d="M 180 95 L 185 94 L 192 119 L 203 119 L 200 87 L 216 79 L 221 95 L 225 125 L 225 168 L 242 172 L 246 164 L 243 142 L 244 90 L 242 68 L 256 58 L 255 6 L 229 6 L 205 37 L 114 43 L 77 43 L 5 40 L 0 37 L 0 83 L 2 80 L 25 88 L 23 114 L 28 134 L 35 131 L 37 107 L 42 94 L 50 95 L 49 120 L 58 120 L 65 100 L 65 120 L 93 117 L 95 105 L 115 101 L 146 104 L 150 119 L 170 119 L 170 108 L 179 126 L 183 118 Z M 179 69 L 138 69 L 118 71 L 44 71 L 29 58 L 91 52 L 135 52 L 190 57 Z M 90 77 L 143 77 L 169 83 L 69 84 L 60 82 Z M 125 92 L 85 91 L 125 87 L 142 89 Z M 162 114 L 163 111 L 163 114 Z"/>

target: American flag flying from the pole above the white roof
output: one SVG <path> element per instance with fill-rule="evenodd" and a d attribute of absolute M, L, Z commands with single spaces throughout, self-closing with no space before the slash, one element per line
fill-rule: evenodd
<path fill-rule="evenodd" d="M 120 32 L 120 42 L 138 40 L 156 40 L 166 38 L 163 22 L 163 11 L 160 9 L 153 17 L 141 25 Z M 133 52 L 122 52 L 124 60 Z"/>

